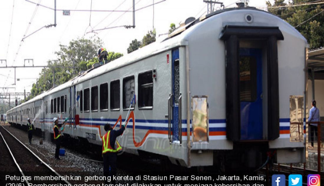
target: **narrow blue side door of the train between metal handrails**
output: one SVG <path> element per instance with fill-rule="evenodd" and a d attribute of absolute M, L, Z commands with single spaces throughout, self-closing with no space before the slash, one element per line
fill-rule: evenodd
<path fill-rule="evenodd" d="M 179 49 L 172 50 L 172 141 L 179 140 Z"/>

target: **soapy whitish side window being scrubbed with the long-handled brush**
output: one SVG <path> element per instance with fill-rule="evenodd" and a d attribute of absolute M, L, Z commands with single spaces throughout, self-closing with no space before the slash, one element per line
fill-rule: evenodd
<path fill-rule="evenodd" d="M 131 101 L 135 94 L 135 79 L 134 76 L 127 77 L 123 79 L 122 83 L 122 106 L 124 109 L 129 108 L 131 106 Z M 131 108 L 134 108 L 132 105 Z"/>

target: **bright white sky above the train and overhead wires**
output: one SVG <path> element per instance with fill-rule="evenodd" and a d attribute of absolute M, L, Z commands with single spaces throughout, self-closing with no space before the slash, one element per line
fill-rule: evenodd
<path fill-rule="evenodd" d="M 135 10 L 161 0 L 135 0 Z M 223 0 L 225 7 L 236 7 L 239 0 Z M 274 0 L 270 2 L 273 3 Z M 33 3 L 32 3 L 33 2 Z M 265 7 L 265 0 L 250 0 L 249 6 Z M 35 4 L 34 4 L 35 3 Z M 0 60 L 6 59 L 7 66 L 23 66 L 25 59 L 33 59 L 34 66 L 44 66 L 55 60 L 59 45 L 68 45 L 73 39 L 99 37 L 108 51 L 127 54 L 133 39 L 141 40 L 154 28 L 156 36 L 168 33 L 171 23 L 179 26 L 188 17 L 198 18 L 206 14 L 207 4 L 203 0 L 165 0 L 153 6 L 135 11 L 135 28 L 124 27 L 91 30 L 133 24 L 132 12 L 106 12 L 102 10 L 132 10 L 132 0 L 56 0 L 57 26 L 54 24 L 54 0 L 2 0 L 0 1 Z M 216 5 L 217 6 L 217 5 Z M 216 7 L 215 6 L 215 7 Z M 72 11 L 72 10 L 92 10 Z M 62 10 L 71 10 L 64 16 Z M 154 19 L 153 19 L 154 15 Z M 35 32 L 34 34 L 32 34 Z M 31 34 L 31 35 L 30 35 Z M 24 35 L 28 36 L 23 41 Z M 165 37 L 165 35 L 160 36 Z M 157 38 L 158 39 L 158 38 Z M 5 62 L 0 63 L 4 67 Z M 25 66 L 32 66 L 26 61 Z M 16 68 L 16 85 L 13 68 L 0 68 L 0 94 L 6 92 L 30 92 L 39 77 L 41 68 Z M 5 89 L 4 87 L 13 87 Z M 23 98 L 19 97 L 19 98 Z M 12 100 L 13 101 L 13 100 Z"/>

